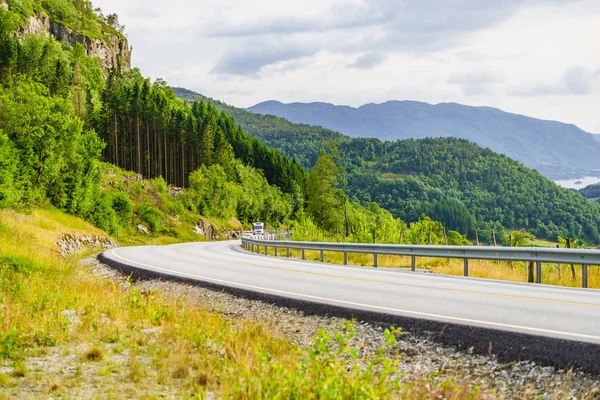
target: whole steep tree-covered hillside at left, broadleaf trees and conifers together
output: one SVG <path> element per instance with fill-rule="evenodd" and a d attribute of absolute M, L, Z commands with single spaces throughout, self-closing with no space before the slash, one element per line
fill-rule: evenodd
<path fill-rule="evenodd" d="M 81 28 L 84 39 L 73 45 L 75 36 L 63 42 L 52 32 L 27 33 L 30 16 Z M 107 70 L 105 60 L 88 56 L 81 35 L 120 40 L 115 21 L 87 1 L 0 7 L 0 207 L 49 203 L 115 232 L 130 222 L 132 215 L 121 217 L 132 205 L 120 185 L 100 185 L 104 159 L 157 178 L 154 187 L 187 187 L 178 204 L 199 214 L 278 225 L 303 209 L 298 163 L 211 105 L 187 105 L 164 81 Z M 156 214 L 155 206 L 134 204 L 133 211 Z"/>

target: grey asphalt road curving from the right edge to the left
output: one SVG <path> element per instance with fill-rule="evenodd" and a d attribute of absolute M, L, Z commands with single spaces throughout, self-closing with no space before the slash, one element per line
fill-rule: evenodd
<path fill-rule="evenodd" d="M 124 247 L 100 259 L 126 272 L 297 302 L 307 311 L 399 322 L 501 359 L 600 372 L 600 291 L 266 257 L 242 250 L 239 241 Z"/>

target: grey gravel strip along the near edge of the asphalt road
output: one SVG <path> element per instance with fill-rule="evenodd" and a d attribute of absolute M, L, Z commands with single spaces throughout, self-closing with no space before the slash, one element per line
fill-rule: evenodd
<path fill-rule="evenodd" d="M 330 316 L 305 315 L 303 312 L 264 301 L 249 300 L 199 286 L 162 280 L 132 283 L 120 272 L 90 257 L 82 261 L 99 277 L 111 279 L 125 288 L 135 285 L 142 291 L 169 296 L 185 296 L 208 310 L 231 320 L 254 320 L 269 325 L 292 343 L 307 347 L 318 330 L 341 329 L 345 320 Z M 383 330 L 388 326 L 355 321 L 354 344 L 363 355 L 375 354 L 385 344 Z M 578 371 L 557 370 L 534 362 L 500 363 L 494 356 L 473 354 L 472 349 L 458 351 L 436 343 L 426 334 L 404 332 L 390 357 L 399 358 L 402 380 L 433 379 L 473 382 L 486 398 L 600 399 L 599 377 Z M 599 355 L 600 356 L 600 355 Z"/>

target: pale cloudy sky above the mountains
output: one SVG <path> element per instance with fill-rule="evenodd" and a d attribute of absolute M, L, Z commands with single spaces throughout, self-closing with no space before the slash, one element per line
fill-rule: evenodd
<path fill-rule="evenodd" d="M 133 65 L 239 107 L 487 105 L 600 133 L 599 0 L 93 0 Z"/>

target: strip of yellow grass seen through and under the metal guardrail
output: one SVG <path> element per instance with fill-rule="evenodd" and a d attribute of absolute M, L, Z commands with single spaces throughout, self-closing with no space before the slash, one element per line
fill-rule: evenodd
<path fill-rule="evenodd" d="M 264 254 L 264 247 L 261 247 L 261 254 Z M 268 249 L 270 256 L 275 256 L 275 250 Z M 278 257 L 286 257 L 285 249 L 278 249 Z M 290 250 L 292 258 L 302 258 L 301 250 Z M 313 250 L 305 251 L 305 259 L 310 261 L 320 261 L 320 252 Z M 324 252 L 324 261 L 332 264 L 343 264 L 343 253 Z M 374 258 L 372 254 L 348 253 L 348 264 L 362 267 L 372 267 Z M 379 267 L 410 269 L 411 258 L 403 256 L 379 255 L 377 257 Z M 454 258 L 426 258 L 418 257 L 416 268 L 420 271 L 428 271 L 435 274 L 463 276 L 464 263 L 462 259 Z M 542 283 L 556 286 L 566 286 L 580 288 L 581 265 L 574 265 L 575 279 L 573 279 L 571 265 L 555 263 L 542 263 Z M 485 278 L 495 280 L 505 280 L 514 282 L 527 282 L 527 263 L 525 262 L 506 262 L 490 260 L 470 260 L 469 276 L 473 278 Z M 588 286 L 593 289 L 600 289 L 600 266 L 588 267 Z"/>

